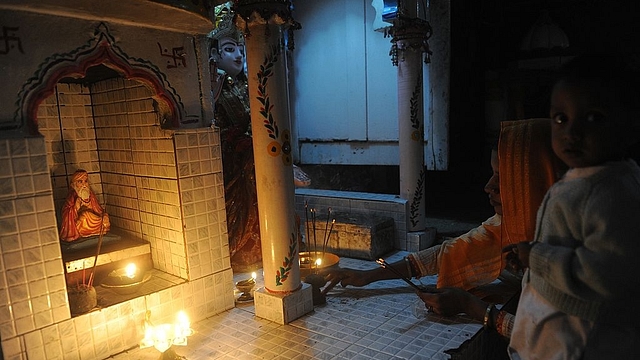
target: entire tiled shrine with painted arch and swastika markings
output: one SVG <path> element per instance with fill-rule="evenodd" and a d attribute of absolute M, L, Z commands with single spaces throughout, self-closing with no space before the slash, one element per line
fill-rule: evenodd
<path fill-rule="evenodd" d="M 3 333 L 5 356 L 41 358 L 31 339 L 64 327 L 66 338 L 84 339 L 64 358 L 109 357 L 137 345 L 137 329 L 114 334 L 107 349 L 75 320 L 86 324 L 85 316 L 109 308 L 100 319 L 92 316 L 92 327 L 138 324 L 147 310 L 159 313 L 165 299 L 186 296 L 167 293 L 197 292 L 197 303 L 185 305 L 194 321 L 233 307 L 231 285 L 224 285 L 232 271 L 216 181 L 219 135 L 211 127 L 210 82 L 203 80 L 209 68 L 201 61 L 213 25 L 200 11 L 206 9 L 196 13 L 184 3 L 0 4 L 11 45 L 0 54 L 7 70 L 0 89 L 0 199 L 5 210 L 16 209 L 2 219 L 15 225 L 0 227 L 0 237 L 14 244 L 11 258 L 22 259 L 2 270 L 26 274 L 0 289 L 26 297 L 5 296 L 15 309 L 3 319 L 13 329 Z M 93 195 L 76 208 L 72 193 L 74 206 L 65 211 L 80 179 L 88 188 L 77 192 Z M 65 215 L 71 209 L 77 217 Z M 102 286 L 111 269 L 128 263 L 147 282 L 126 294 L 113 289 L 119 284 Z M 194 292 L 194 282 L 213 286 Z M 91 315 L 76 309 L 68 291 L 85 284 L 97 292 Z M 160 294 L 161 301 L 145 301 Z"/>

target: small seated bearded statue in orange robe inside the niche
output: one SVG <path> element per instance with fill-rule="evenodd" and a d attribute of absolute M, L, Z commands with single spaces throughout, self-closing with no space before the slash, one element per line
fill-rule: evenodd
<path fill-rule="evenodd" d="M 62 208 L 60 239 L 77 241 L 94 235 L 104 235 L 111 228 L 109 215 L 98 203 L 89 184 L 89 174 L 77 170 L 71 177 L 69 194 Z"/>

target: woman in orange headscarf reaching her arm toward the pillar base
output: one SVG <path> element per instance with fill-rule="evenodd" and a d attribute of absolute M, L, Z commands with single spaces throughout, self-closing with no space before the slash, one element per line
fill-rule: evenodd
<path fill-rule="evenodd" d="M 464 235 L 411 253 L 391 266 L 406 277 L 438 274 L 439 288 L 470 290 L 497 279 L 507 263 L 502 248 L 533 238 L 542 198 L 564 170 L 551 149 L 550 131 L 548 119 L 503 122 L 498 149 L 492 153 L 493 175 L 484 188 L 496 214 Z M 380 267 L 329 270 L 325 275 L 329 287 L 398 278 Z"/>

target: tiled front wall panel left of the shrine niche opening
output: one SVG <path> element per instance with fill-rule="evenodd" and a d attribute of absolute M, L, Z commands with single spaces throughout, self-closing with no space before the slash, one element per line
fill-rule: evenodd
<path fill-rule="evenodd" d="M 0 140 L 0 339 L 69 319 L 45 142 Z M 11 359 L 4 353 L 5 359 Z"/>

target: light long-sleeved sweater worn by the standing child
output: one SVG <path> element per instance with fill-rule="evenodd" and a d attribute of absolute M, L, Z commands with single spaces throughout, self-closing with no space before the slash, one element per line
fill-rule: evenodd
<path fill-rule="evenodd" d="M 640 167 L 616 161 L 571 169 L 538 211 L 530 284 L 585 320 L 638 324 Z"/>

